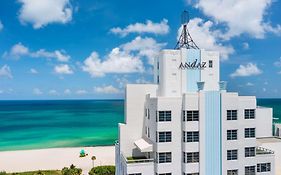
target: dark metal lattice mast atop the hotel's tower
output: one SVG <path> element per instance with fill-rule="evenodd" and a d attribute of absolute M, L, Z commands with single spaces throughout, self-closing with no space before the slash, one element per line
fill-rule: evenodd
<path fill-rule="evenodd" d="M 199 49 L 199 47 L 195 44 L 187 29 L 188 23 L 189 23 L 189 13 L 186 10 L 184 10 L 181 14 L 182 31 L 175 49 L 180 49 L 180 48 Z"/>

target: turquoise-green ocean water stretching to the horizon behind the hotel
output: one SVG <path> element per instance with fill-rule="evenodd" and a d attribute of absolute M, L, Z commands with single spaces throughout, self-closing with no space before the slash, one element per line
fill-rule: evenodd
<path fill-rule="evenodd" d="M 281 99 L 258 105 L 281 123 Z M 112 145 L 123 120 L 123 100 L 0 101 L 0 151 Z"/>

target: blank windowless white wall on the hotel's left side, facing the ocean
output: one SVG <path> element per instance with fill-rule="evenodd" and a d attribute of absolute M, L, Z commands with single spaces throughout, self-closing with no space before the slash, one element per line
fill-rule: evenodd
<path fill-rule="evenodd" d="M 134 142 L 142 138 L 145 118 L 146 95 L 156 96 L 157 85 L 128 84 L 126 86 L 125 123 L 119 125 L 120 150 L 125 156 L 132 156 L 136 149 Z"/>

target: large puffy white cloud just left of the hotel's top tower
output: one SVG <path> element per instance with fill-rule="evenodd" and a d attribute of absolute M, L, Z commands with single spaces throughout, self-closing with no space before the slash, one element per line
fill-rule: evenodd
<path fill-rule="evenodd" d="M 153 64 L 154 57 L 166 43 L 157 43 L 152 38 L 136 37 L 131 42 L 125 43 L 111 50 L 103 59 L 97 52 L 84 60 L 83 71 L 92 77 L 101 77 L 105 74 L 144 72 L 142 58 L 146 57 L 149 64 Z"/>

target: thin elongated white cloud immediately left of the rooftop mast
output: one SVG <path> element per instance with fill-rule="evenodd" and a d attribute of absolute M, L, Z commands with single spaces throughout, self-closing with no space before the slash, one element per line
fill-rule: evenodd
<path fill-rule="evenodd" d="M 119 34 L 123 37 L 129 33 L 153 33 L 164 35 L 169 33 L 169 25 L 167 19 L 163 19 L 160 23 L 153 23 L 152 21 L 147 20 L 146 23 L 130 24 L 124 29 L 121 29 L 120 27 L 112 28 L 110 29 L 110 32 Z"/>

